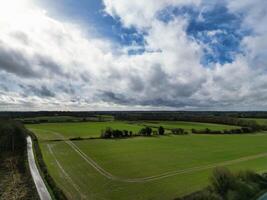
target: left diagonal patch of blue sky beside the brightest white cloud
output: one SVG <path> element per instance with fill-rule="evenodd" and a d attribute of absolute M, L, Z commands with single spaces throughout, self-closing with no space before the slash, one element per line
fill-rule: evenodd
<path fill-rule="evenodd" d="M 89 29 L 95 29 L 99 36 L 121 45 L 130 45 L 133 42 L 140 45 L 144 43 L 143 35 L 139 34 L 134 27 L 125 28 L 118 18 L 105 13 L 101 0 L 47 0 L 40 3 L 47 6 L 50 15 L 82 23 Z"/>

